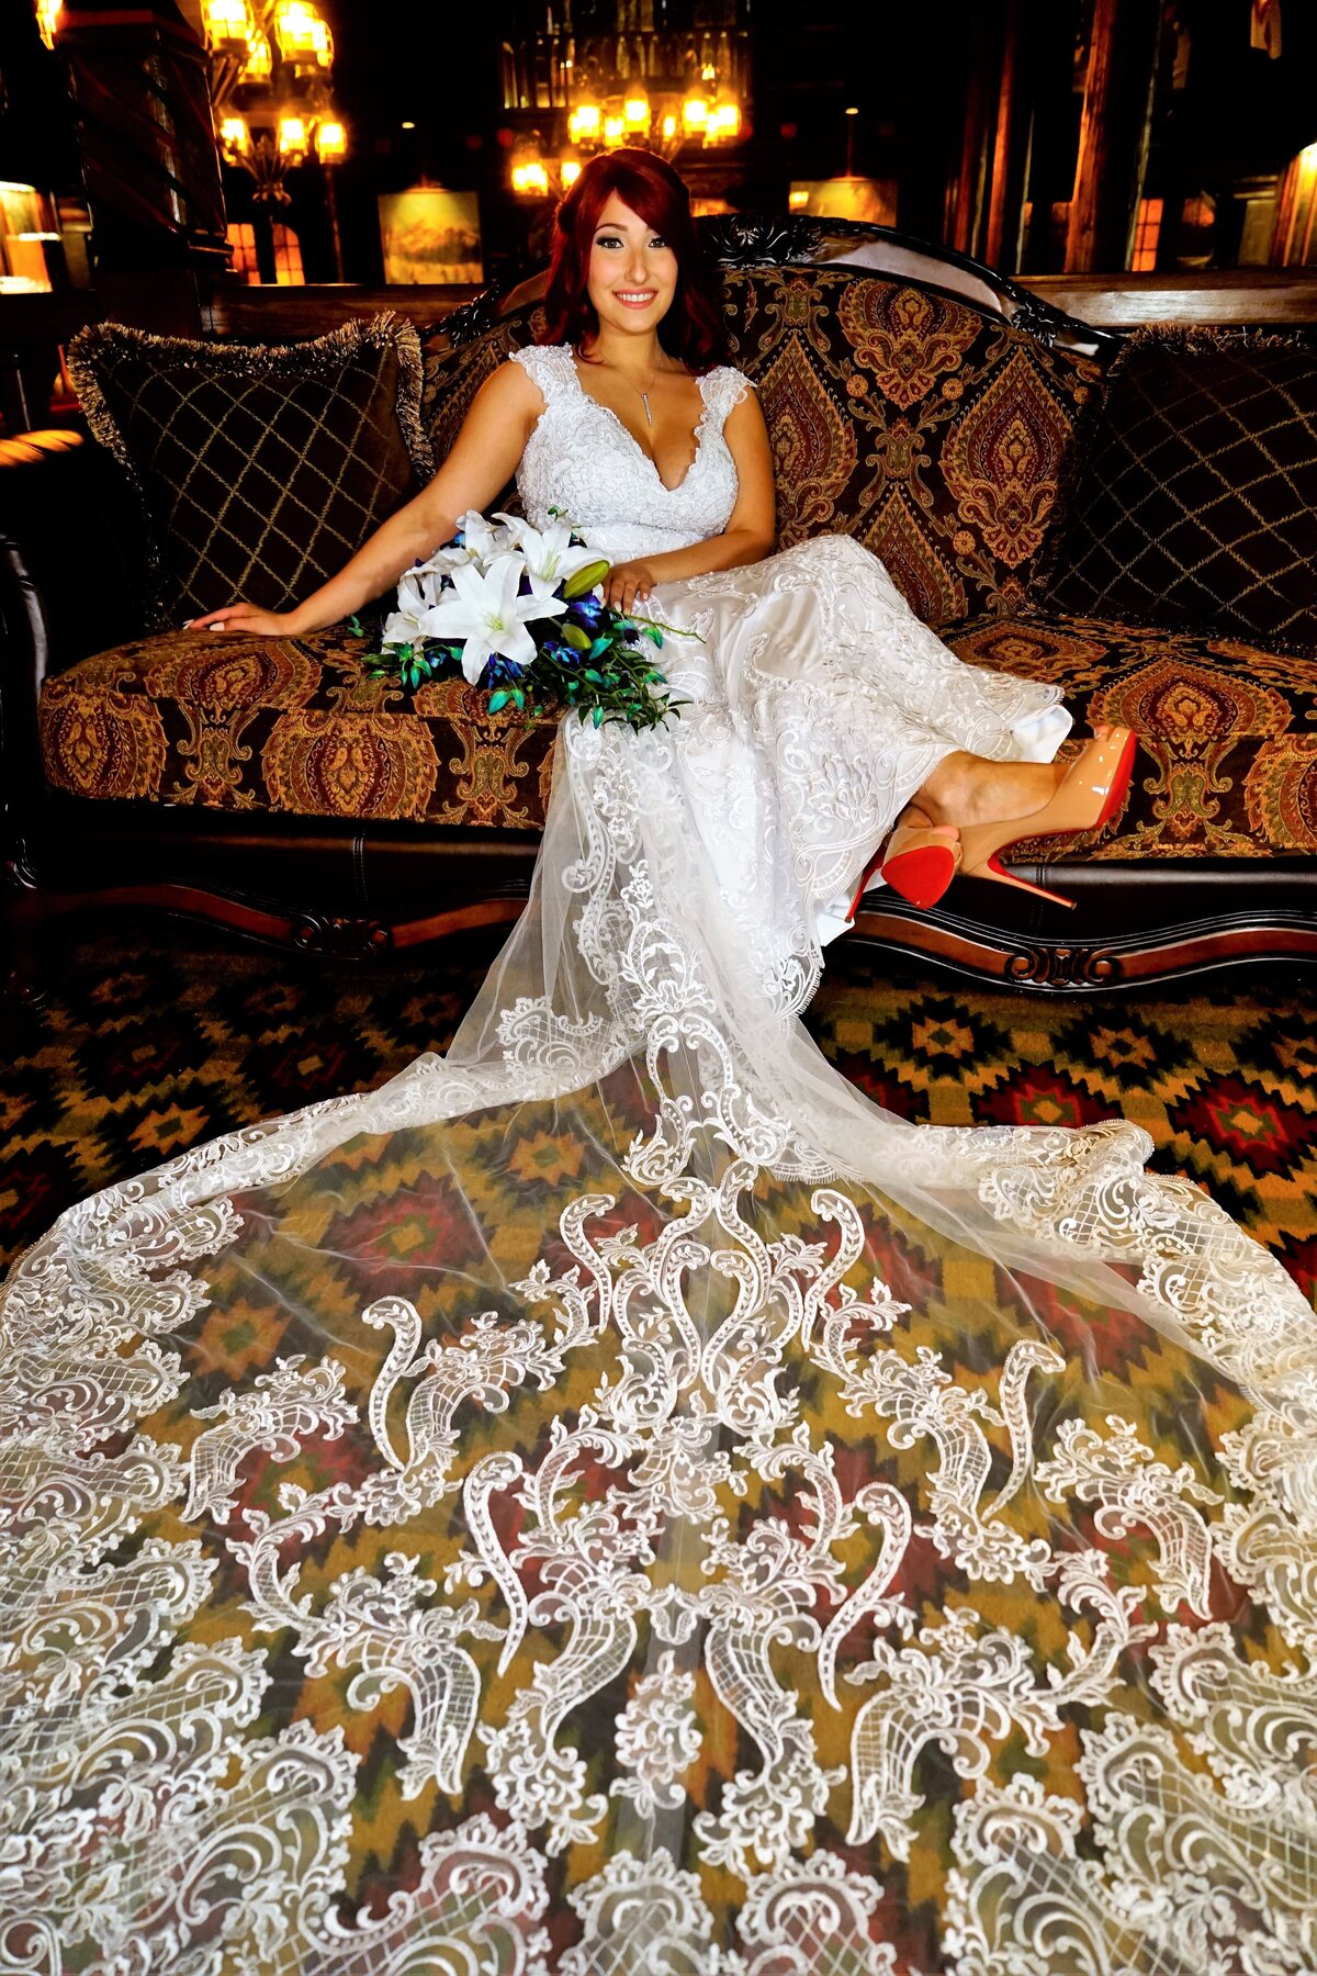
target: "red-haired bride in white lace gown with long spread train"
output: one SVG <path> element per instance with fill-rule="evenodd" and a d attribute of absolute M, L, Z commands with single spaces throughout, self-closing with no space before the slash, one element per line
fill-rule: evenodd
<path fill-rule="evenodd" d="M 1120 800 L 772 468 L 685 188 L 581 174 L 549 340 L 288 617 L 507 476 L 677 626 L 565 721 L 452 1047 L 61 1217 L 4 1294 L 0 1966 L 1317 1964 L 1317 1346 L 1122 1120 L 934 1130 L 798 1022 L 883 879 Z"/>

